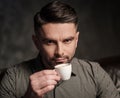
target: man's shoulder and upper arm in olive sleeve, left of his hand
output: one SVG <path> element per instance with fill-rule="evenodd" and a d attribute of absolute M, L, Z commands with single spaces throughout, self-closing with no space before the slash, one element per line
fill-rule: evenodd
<path fill-rule="evenodd" d="M 10 96 L 8 92 L 16 96 L 23 95 L 32 73 L 32 62 L 33 60 L 28 60 L 7 68 L 0 82 L 0 93 L 5 96 L 6 94 Z"/>

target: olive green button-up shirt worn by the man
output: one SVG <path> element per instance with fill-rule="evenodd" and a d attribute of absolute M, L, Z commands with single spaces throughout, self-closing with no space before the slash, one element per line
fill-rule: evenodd
<path fill-rule="evenodd" d="M 44 98 L 120 98 L 111 78 L 98 63 L 73 58 L 71 64 L 71 78 L 61 80 Z M 22 98 L 29 76 L 44 69 L 38 58 L 9 68 L 0 84 L 0 98 Z"/>

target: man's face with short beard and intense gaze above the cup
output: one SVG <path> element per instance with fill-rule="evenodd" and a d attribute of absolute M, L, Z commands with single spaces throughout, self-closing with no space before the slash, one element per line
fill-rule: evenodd
<path fill-rule="evenodd" d="M 70 62 L 75 54 L 79 32 L 73 23 L 48 23 L 38 31 L 37 47 L 44 64 Z"/>

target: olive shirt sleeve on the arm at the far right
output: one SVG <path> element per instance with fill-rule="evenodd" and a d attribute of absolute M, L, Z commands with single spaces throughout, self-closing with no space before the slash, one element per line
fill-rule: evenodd
<path fill-rule="evenodd" d="M 108 73 L 98 63 L 94 63 L 93 65 L 95 65 L 93 66 L 93 70 L 98 84 L 98 98 L 120 98 L 119 92 Z"/>

